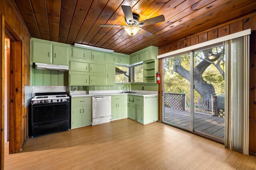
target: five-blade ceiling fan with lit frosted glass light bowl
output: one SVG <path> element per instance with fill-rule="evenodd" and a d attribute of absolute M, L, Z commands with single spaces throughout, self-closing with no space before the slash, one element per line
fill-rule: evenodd
<path fill-rule="evenodd" d="M 139 21 L 139 15 L 132 13 L 132 8 L 130 6 L 122 5 L 121 6 L 125 21 L 127 25 L 107 25 L 107 24 L 101 24 L 101 27 L 123 27 L 125 32 L 120 36 L 120 38 L 125 37 L 127 34 L 129 35 L 135 35 L 137 32 L 140 34 L 150 37 L 152 33 L 146 31 L 145 29 L 142 29 L 140 27 L 144 27 L 146 25 L 150 25 L 153 23 L 163 22 L 165 21 L 164 15 L 156 16 L 154 18 L 150 18 L 147 20 Z"/>

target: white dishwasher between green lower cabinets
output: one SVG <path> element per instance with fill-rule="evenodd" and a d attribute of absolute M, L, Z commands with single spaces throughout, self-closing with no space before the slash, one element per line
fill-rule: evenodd
<path fill-rule="evenodd" d="M 92 97 L 92 125 L 110 122 L 111 96 Z"/>

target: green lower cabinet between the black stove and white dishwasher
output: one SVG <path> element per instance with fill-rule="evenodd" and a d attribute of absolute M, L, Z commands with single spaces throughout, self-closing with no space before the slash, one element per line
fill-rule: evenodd
<path fill-rule="evenodd" d="M 92 124 L 92 98 L 71 98 L 71 129 Z"/>

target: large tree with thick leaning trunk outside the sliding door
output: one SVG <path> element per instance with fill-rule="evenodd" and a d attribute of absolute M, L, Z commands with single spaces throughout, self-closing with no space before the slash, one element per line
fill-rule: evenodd
<path fill-rule="evenodd" d="M 223 46 L 194 53 L 194 86 L 195 90 L 200 94 L 200 96 L 202 96 L 202 98 L 210 98 L 211 94 L 215 93 L 212 83 L 220 83 L 222 78 L 224 79 L 223 55 Z M 184 64 L 188 61 L 190 61 L 190 55 L 185 54 L 171 58 L 170 62 L 166 64 L 172 65 L 174 72 L 178 73 L 190 82 L 189 64 Z M 214 74 L 214 72 L 206 71 L 207 69 L 210 69 L 209 66 L 211 64 L 217 68 L 222 77 Z M 221 68 L 222 66 L 223 69 Z"/>

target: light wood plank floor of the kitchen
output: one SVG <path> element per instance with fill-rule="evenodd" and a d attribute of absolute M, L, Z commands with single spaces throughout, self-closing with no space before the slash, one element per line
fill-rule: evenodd
<path fill-rule="evenodd" d="M 163 123 L 121 119 L 29 139 L 5 169 L 256 169 L 256 156 Z"/>

